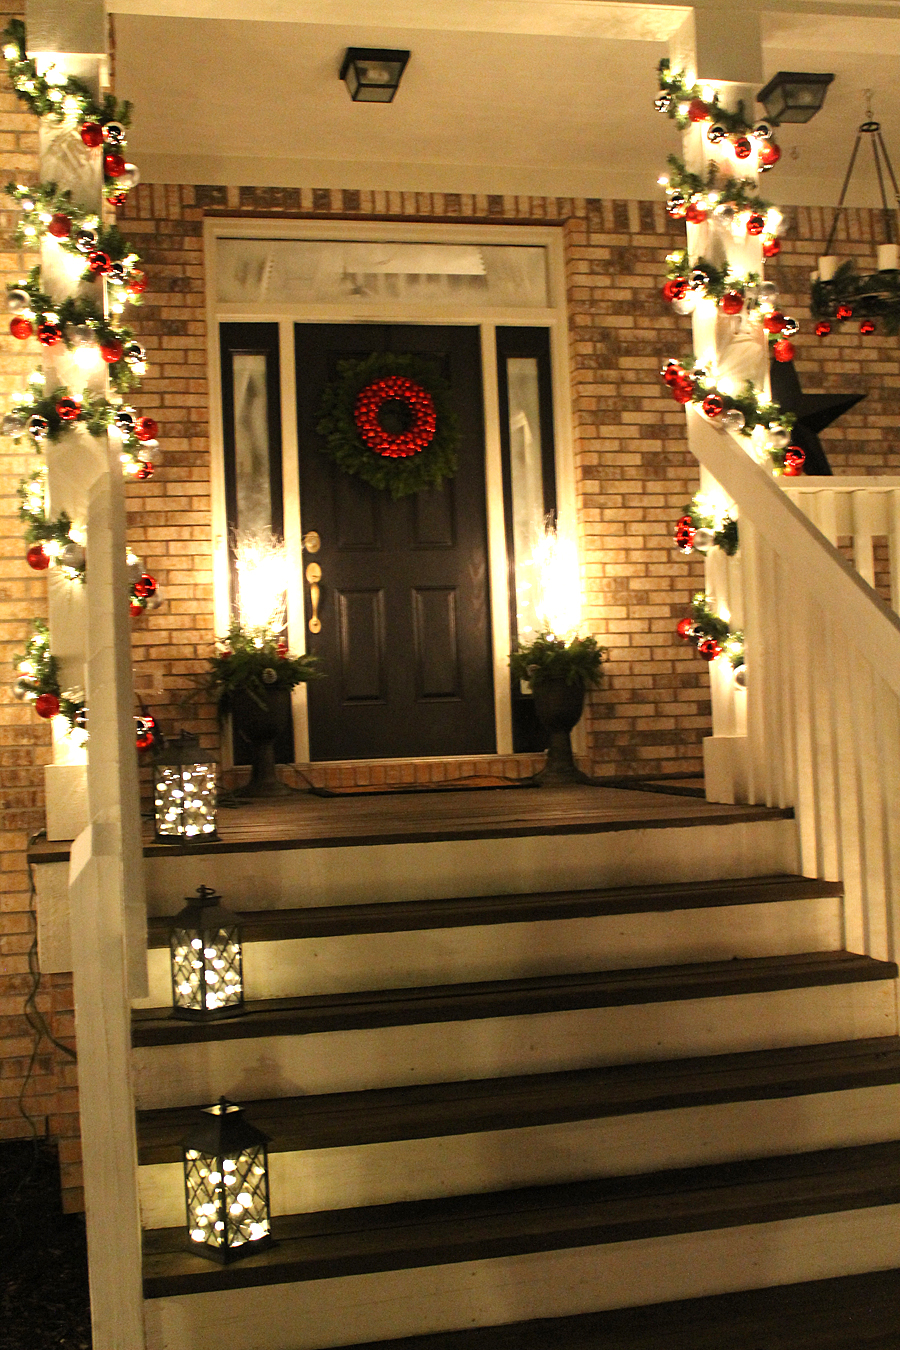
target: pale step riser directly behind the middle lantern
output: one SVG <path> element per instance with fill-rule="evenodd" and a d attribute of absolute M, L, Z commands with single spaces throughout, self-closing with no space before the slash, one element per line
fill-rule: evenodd
<path fill-rule="evenodd" d="M 841 899 L 615 914 L 412 933 L 297 938 L 244 945 L 248 999 L 414 988 L 580 971 L 633 969 L 838 950 Z M 169 952 L 148 953 L 150 998 L 171 1003 Z"/>

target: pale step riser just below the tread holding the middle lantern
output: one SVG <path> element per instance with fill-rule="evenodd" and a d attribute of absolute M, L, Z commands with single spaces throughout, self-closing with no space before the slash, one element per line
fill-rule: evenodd
<path fill-rule="evenodd" d="M 134 1052 L 142 1110 L 896 1034 L 892 980 Z"/>

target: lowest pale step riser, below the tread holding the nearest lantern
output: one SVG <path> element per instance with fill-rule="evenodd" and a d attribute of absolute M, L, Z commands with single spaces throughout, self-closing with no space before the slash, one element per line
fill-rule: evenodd
<path fill-rule="evenodd" d="M 151 1299 L 147 1350 L 324 1350 L 891 1269 L 900 1206 Z"/>

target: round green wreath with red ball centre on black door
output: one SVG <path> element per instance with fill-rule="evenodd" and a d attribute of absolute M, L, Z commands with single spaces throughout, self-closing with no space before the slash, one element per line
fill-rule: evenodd
<path fill-rule="evenodd" d="M 460 431 L 451 389 L 420 356 L 372 352 L 339 362 L 316 431 L 320 450 L 339 468 L 394 501 L 439 487 L 457 470 Z"/>

